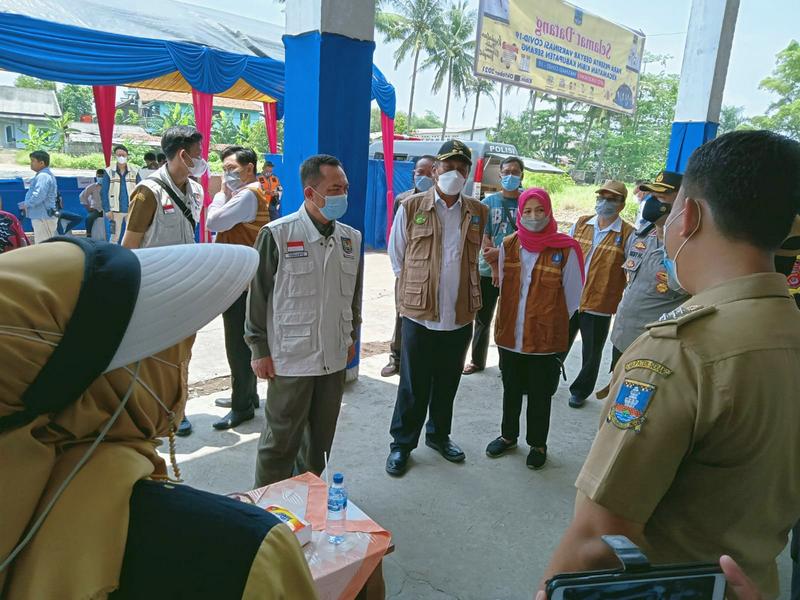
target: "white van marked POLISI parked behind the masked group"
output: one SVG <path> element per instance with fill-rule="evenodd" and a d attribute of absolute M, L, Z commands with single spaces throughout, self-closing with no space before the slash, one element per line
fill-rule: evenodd
<path fill-rule="evenodd" d="M 461 141 L 472 150 L 472 170 L 469 173 L 464 192 L 473 198 L 482 198 L 487 194 L 500 191 L 500 163 L 508 156 L 518 156 L 517 148 L 512 144 L 500 144 L 498 142 Z M 420 156 L 425 154 L 436 156 L 443 143 L 442 141 L 395 140 L 394 159 L 414 163 Z M 370 144 L 369 157 L 383 160 L 383 142 L 377 141 Z M 541 160 L 525 156 L 520 156 L 519 158 L 522 159 L 526 171 L 564 174 L 564 171 L 558 167 Z M 395 190 L 395 193 L 400 193 L 401 191 Z"/>

